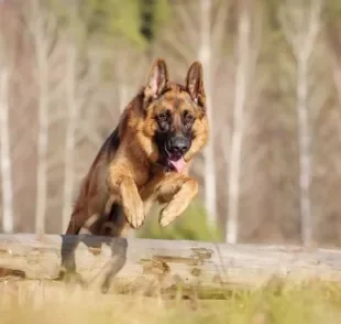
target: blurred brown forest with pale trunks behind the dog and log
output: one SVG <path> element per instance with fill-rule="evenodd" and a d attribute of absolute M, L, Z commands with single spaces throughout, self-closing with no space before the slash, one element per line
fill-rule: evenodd
<path fill-rule="evenodd" d="M 133 235 L 340 246 L 340 0 L 1 0 L 0 230 L 65 231 L 156 57 L 202 63 L 211 139 L 197 201 Z"/>

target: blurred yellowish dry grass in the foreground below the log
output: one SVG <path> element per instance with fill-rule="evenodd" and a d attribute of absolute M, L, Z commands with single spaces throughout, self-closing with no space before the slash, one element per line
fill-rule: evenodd
<path fill-rule="evenodd" d="M 196 306 L 194 306 L 196 305 Z M 99 294 L 61 283 L 0 283 L 0 323 L 341 323 L 341 289 L 318 283 L 234 292 L 220 301 Z"/>

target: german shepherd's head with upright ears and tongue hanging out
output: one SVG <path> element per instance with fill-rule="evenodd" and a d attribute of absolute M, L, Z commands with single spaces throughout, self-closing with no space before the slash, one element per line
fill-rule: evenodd
<path fill-rule="evenodd" d="M 143 90 L 144 147 L 152 162 L 183 172 L 187 162 L 206 144 L 208 125 L 202 66 L 194 62 L 185 85 L 172 83 L 163 60 L 156 60 Z M 150 142 L 146 142 L 146 139 Z"/>

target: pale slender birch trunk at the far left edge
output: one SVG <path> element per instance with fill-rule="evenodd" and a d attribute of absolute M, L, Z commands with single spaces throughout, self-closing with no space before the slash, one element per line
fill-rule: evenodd
<path fill-rule="evenodd" d="M 9 125 L 9 79 L 10 68 L 0 63 L 0 131 L 1 131 L 1 192 L 2 192 L 2 230 L 13 233 L 13 183 L 10 152 Z"/>

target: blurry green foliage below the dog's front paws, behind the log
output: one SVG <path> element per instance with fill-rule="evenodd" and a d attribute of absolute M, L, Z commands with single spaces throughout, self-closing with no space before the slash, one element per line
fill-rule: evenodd
<path fill-rule="evenodd" d="M 166 227 L 158 224 L 161 208 L 148 215 L 148 222 L 138 231 L 141 238 L 189 239 L 201 241 L 220 241 L 222 233 L 207 226 L 207 214 L 199 202 L 194 202 L 184 214 Z"/>

